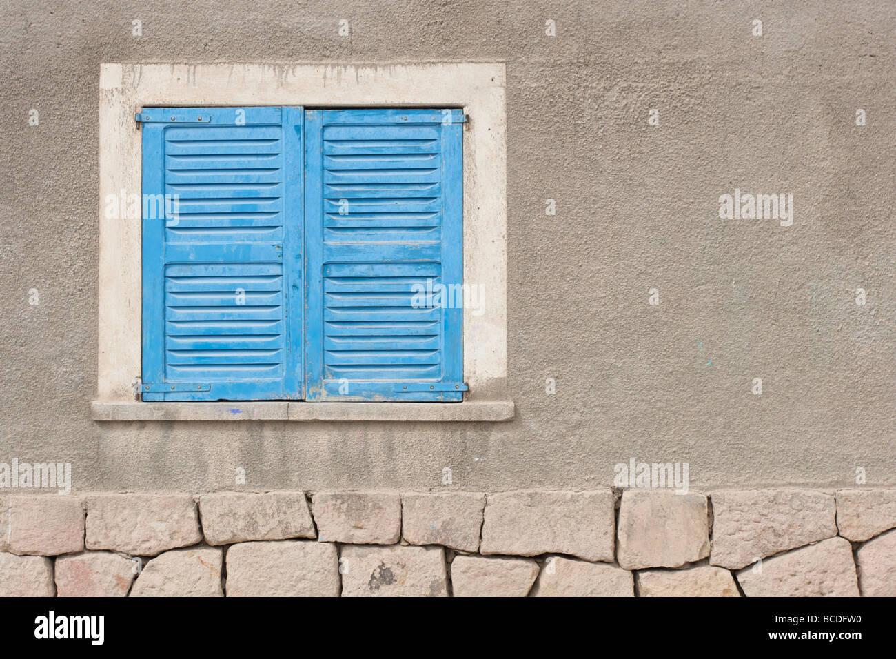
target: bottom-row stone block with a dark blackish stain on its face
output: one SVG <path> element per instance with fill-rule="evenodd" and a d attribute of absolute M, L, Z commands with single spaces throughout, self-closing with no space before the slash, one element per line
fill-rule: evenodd
<path fill-rule="evenodd" d="M 442 547 L 342 547 L 343 597 L 444 597 L 448 594 Z"/>

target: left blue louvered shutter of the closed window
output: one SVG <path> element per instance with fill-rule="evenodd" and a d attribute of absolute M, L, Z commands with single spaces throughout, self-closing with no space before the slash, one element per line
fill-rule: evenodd
<path fill-rule="evenodd" d="M 302 109 L 138 118 L 143 400 L 304 397 Z"/>

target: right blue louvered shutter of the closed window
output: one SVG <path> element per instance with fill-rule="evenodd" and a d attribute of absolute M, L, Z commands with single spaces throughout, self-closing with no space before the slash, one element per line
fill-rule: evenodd
<path fill-rule="evenodd" d="M 461 110 L 305 121 L 308 400 L 460 401 Z"/>

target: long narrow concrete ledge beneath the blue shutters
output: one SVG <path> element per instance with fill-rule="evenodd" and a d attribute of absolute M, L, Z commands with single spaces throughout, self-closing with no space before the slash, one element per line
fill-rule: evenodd
<path fill-rule="evenodd" d="M 513 401 L 139 403 L 94 401 L 93 421 L 509 421 Z"/>

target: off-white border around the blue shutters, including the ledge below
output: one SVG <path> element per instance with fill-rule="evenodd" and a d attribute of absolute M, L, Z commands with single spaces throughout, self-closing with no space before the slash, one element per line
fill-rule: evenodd
<path fill-rule="evenodd" d="M 109 219 L 108 195 L 141 194 L 146 106 L 461 107 L 464 282 L 481 286 L 463 314 L 463 403 L 248 403 L 261 419 L 503 421 L 507 400 L 507 201 L 504 64 L 103 64 L 99 69 L 99 364 L 93 418 L 251 419 L 223 403 L 136 403 L 141 373 L 141 221 Z M 370 406 L 390 405 L 386 410 Z M 198 405 L 202 405 L 201 407 Z M 292 410 L 288 412 L 289 407 Z M 314 409 L 312 409 L 314 406 Z M 317 410 L 319 406 L 323 409 Z M 398 407 L 396 407 L 398 406 Z M 176 409 L 177 408 L 177 409 Z M 282 408 L 282 412 L 278 412 Z M 400 408 L 400 409 L 399 409 Z M 464 412 L 464 410 L 469 410 Z M 417 412 L 415 412 L 417 411 Z M 441 412 L 440 412 L 441 411 Z M 255 419 L 259 419 L 256 414 Z"/>

